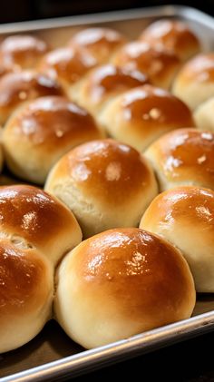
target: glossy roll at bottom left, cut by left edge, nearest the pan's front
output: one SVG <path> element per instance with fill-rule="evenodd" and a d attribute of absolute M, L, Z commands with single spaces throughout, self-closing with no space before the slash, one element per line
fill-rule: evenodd
<path fill-rule="evenodd" d="M 53 265 L 35 249 L 0 240 L 0 353 L 34 338 L 51 317 Z"/>

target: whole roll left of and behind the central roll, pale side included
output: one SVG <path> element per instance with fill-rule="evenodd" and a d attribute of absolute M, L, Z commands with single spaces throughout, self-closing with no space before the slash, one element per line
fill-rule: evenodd
<path fill-rule="evenodd" d="M 16 176 L 43 184 L 53 164 L 83 142 L 102 138 L 91 114 L 63 97 L 25 103 L 5 124 L 5 160 Z"/>

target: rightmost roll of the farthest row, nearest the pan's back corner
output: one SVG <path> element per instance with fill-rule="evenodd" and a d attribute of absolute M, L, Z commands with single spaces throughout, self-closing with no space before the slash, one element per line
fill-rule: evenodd
<path fill-rule="evenodd" d="M 161 19 L 150 24 L 140 36 L 152 46 L 169 49 L 177 54 L 181 60 L 188 60 L 192 55 L 199 53 L 199 39 L 188 24 L 178 20 Z"/>

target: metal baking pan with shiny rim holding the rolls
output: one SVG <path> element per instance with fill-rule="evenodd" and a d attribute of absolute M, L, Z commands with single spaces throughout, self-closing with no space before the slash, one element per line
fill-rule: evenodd
<path fill-rule="evenodd" d="M 199 35 L 204 51 L 214 49 L 213 18 L 180 5 L 5 24 L 0 26 L 0 38 L 6 34 L 33 33 L 57 46 L 66 43 L 83 26 L 92 24 L 110 26 L 135 38 L 147 24 L 166 16 L 190 24 Z M 68 338 L 52 320 L 28 344 L 0 356 L 1 382 L 71 379 L 89 370 L 199 336 L 214 329 L 213 309 L 214 295 L 199 295 L 192 318 L 87 351 Z"/>

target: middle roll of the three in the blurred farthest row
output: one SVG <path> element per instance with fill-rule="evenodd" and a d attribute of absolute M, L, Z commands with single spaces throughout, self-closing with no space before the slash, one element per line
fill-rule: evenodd
<path fill-rule="evenodd" d="M 126 42 L 124 35 L 111 28 L 93 27 L 74 34 L 68 44 L 84 48 L 103 64 Z"/>

